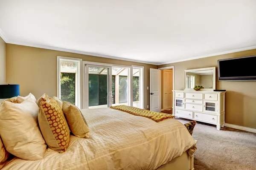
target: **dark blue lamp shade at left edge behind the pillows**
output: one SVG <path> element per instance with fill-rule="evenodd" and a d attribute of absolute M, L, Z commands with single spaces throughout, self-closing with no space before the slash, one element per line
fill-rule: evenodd
<path fill-rule="evenodd" d="M 20 85 L 0 85 L 0 99 L 8 99 L 20 95 Z"/>

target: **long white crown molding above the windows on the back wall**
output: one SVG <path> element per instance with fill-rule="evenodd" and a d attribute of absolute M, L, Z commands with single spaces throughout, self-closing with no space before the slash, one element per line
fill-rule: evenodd
<path fill-rule="evenodd" d="M 46 45 L 35 45 L 35 44 L 26 43 L 26 42 L 7 41 L 6 43 L 16 44 L 16 45 L 24 45 L 24 46 L 36 47 L 36 48 L 44 48 L 44 49 L 56 50 L 56 51 L 64 51 L 64 52 L 70 52 L 70 53 L 76 53 L 76 54 L 84 54 L 84 55 L 89 55 L 89 56 L 118 59 L 118 60 L 130 61 L 130 62 L 139 62 L 139 63 L 157 65 L 157 63 L 154 63 L 154 62 L 145 62 L 145 61 L 140 61 L 140 60 L 136 60 L 136 59 L 127 59 L 127 58 L 113 57 L 113 56 L 102 55 L 102 54 L 87 53 L 87 52 L 83 52 L 83 51 L 69 50 L 69 49 L 65 49 L 65 48 L 51 47 L 51 46 L 46 46 Z"/>

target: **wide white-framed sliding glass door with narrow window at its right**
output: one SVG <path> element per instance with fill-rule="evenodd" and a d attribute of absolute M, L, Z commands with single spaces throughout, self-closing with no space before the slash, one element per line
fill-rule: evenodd
<path fill-rule="evenodd" d="M 134 105 L 144 108 L 143 68 L 84 62 L 84 108 Z M 134 96 L 134 97 L 133 97 Z"/>

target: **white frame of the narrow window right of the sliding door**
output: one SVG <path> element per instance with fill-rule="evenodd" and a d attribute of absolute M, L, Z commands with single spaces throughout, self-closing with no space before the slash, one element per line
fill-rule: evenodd
<path fill-rule="evenodd" d="M 134 68 L 140 69 L 140 108 L 145 109 L 144 108 L 144 67 L 138 66 L 138 65 L 132 65 L 131 71 L 133 71 Z M 133 74 L 131 75 L 133 76 Z M 132 81 L 132 76 L 131 76 L 131 81 Z M 133 91 L 133 83 L 131 83 L 131 92 L 132 91 Z M 133 93 L 131 93 L 131 103 L 133 104 Z"/>

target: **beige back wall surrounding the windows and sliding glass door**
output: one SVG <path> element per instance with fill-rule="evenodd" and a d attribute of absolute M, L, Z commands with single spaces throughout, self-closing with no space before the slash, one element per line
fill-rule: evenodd
<path fill-rule="evenodd" d="M 56 96 L 57 56 L 81 58 L 83 61 L 90 62 L 144 66 L 145 108 L 147 108 L 147 105 L 150 105 L 149 90 L 147 90 L 150 79 L 149 68 L 157 68 L 157 65 L 148 65 L 139 62 L 129 62 L 23 45 L 6 44 L 6 82 L 20 84 L 21 96 L 26 96 L 30 92 L 34 94 L 36 98 L 39 98 L 44 93 L 49 96 Z"/>

